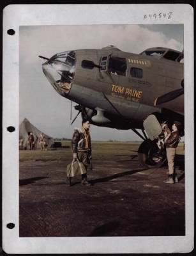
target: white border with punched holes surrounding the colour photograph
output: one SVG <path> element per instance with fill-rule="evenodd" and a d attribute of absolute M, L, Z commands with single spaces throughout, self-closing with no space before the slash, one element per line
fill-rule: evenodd
<path fill-rule="evenodd" d="M 64 13 L 66 12 L 66 15 Z M 73 15 L 74 12 L 74 15 Z M 170 19 L 147 19 L 150 13 Z M 81 15 L 85 13 L 85 15 Z M 121 15 L 119 15 L 119 13 Z M 184 24 L 186 235 L 171 237 L 19 237 L 19 27 Z M 8 35 L 14 29 L 15 35 Z M 6 253 L 172 253 L 194 244 L 193 8 L 189 4 L 13 4 L 3 12 L 3 250 Z M 15 127 L 8 132 L 7 127 Z M 9 229 L 7 223 L 15 223 Z M 156 246 L 155 246 L 156 244 Z"/>

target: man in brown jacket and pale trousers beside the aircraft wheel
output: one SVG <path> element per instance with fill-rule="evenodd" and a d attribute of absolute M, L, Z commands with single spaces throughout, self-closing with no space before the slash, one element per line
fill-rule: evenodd
<path fill-rule="evenodd" d="M 169 168 L 169 176 L 167 180 L 164 180 L 165 183 L 172 184 L 178 182 L 177 173 L 174 169 L 174 157 L 176 155 L 176 148 L 181 139 L 179 131 L 181 130 L 181 124 L 177 121 L 174 121 L 172 125 L 172 132 L 170 133 L 169 138 L 165 141 L 165 147 L 167 152 L 167 163 Z"/>

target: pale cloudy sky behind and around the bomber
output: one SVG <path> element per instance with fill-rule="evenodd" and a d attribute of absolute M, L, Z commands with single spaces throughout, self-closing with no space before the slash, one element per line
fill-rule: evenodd
<path fill-rule="evenodd" d="M 53 138 L 72 138 L 74 127 L 80 127 L 79 115 L 71 101 L 59 95 L 43 74 L 45 61 L 57 52 L 75 49 L 101 49 L 115 45 L 121 51 L 140 53 L 150 47 L 183 50 L 182 24 L 93 25 L 93 26 L 20 26 L 20 116 L 27 118 Z M 73 107 L 77 105 L 73 102 Z M 133 131 L 91 125 L 92 140 L 140 141 Z"/>

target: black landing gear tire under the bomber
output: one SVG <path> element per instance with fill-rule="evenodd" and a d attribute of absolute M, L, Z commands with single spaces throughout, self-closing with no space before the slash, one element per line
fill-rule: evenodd
<path fill-rule="evenodd" d="M 145 140 L 138 149 L 138 159 L 142 166 L 159 168 L 167 160 L 165 150 L 158 154 L 158 147 L 154 141 Z"/>

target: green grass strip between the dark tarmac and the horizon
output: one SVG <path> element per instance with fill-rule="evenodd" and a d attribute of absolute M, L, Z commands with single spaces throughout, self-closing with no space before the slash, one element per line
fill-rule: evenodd
<path fill-rule="evenodd" d="M 61 141 L 63 147 L 56 150 L 20 150 L 20 161 L 63 161 L 72 159 L 71 141 Z M 93 159 L 112 159 L 113 157 L 127 157 L 137 155 L 140 142 L 108 142 L 92 141 Z M 177 154 L 184 154 L 184 145 L 179 143 Z"/>

